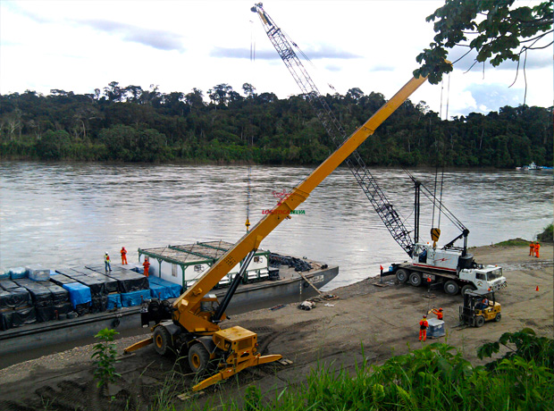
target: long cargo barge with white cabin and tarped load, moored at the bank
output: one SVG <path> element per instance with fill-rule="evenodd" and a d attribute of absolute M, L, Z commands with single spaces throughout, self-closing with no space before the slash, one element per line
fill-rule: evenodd
<path fill-rule="evenodd" d="M 80 311 L 79 316 L 58 315 L 56 312 L 57 319 L 55 320 L 41 323 L 23 322 L 16 327 L 0 331 L 0 355 L 94 337 L 98 331 L 105 328 L 113 328 L 118 331 L 139 330 L 141 327 L 140 303 L 147 299 L 147 295 L 157 294 L 160 298 L 164 298 L 164 292 L 168 289 L 160 288 L 161 286 L 156 282 L 163 284 L 172 282 L 173 285 L 180 283 L 181 287 L 186 289 L 202 275 L 205 269 L 209 268 L 217 258 L 225 253 L 227 247 L 231 246 L 230 243 L 216 241 L 188 246 L 139 249 L 140 261 L 144 261 L 145 258 L 149 258 L 151 261 L 151 270 L 147 281 L 149 284 L 148 290 L 135 290 L 133 288 L 134 286 L 139 287 L 139 283 L 144 284 L 146 280 L 143 275 L 137 273 L 139 265 L 129 266 L 135 270 L 132 271 L 127 268 L 128 265 L 112 264 L 113 272 L 111 273 L 105 273 L 104 265 L 88 265 L 83 268 L 73 267 L 55 270 L 56 273 L 51 272 L 48 281 L 49 284 L 53 284 L 54 289 L 57 284 L 63 284 L 71 281 L 71 279 L 77 279 L 75 282 L 79 282 L 79 289 L 87 287 L 94 289 L 91 301 L 88 305 L 84 305 L 89 307 L 88 312 L 83 309 L 79 298 L 77 300 L 72 298 L 73 311 L 70 314 Z M 203 252 L 199 252 L 200 249 Z M 206 253 L 206 249 L 211 250 L 211 252 Z M 316 288 L 321 288 L 332 281 L 339 273 L 337 265 L 323 264 L 306 257 L 280 256 L 264 250 L 259 250 L 258 254 L 259 256 L 256 255 L 258 256 L 256 262 L 253 261 L 252 266 L 248 266 L 246 275 L 248 280 L 239 285 L 239 289 L 231 300 L 228 309 L 230 313 L 246 312 L 282 303 L 302 301 L 315 295 L 315 289 L 310 286 L 310 283 Z M 202 263 L 199 263 L 200 261 Z M 200 264 L 203 265 L 202 269 L 198 267 Z M 180 271 L 178 277 L 173 276 L 176 270 L 175 266 L 177 266 L 178 273 Z M 221 299 L 226 292 L 227 281 L 232 280 L 236 273 L 238 273 L 238 267 L 235 267 L 229 273 L 228 279 L 223 279 L 216 288 L 211 290 L 210 294 L 215 294 Z M 102 275 L 105 276 L 104 286 L 101 284 L 103 282 Z M 68 277 L 70 280 L 63 279 L 63 277 Z M 174 280 L 176 277 L 178 282 Z M 171 281 L 172 278 L 173 281 Z M 40 284 L 42 281 L 36 282 Z M 25 282 L 22 283 L 25 284 Z M 2 286 L 1 283 L 0 286 Z M 127 288 L 123 290 L 129 292 L 108 293 L 107 290 L 114 290 L 113 287 L 119 287 L 119 291 L 122 290 L 122 287 Z M 54 291 L 52 292 L 54 293 Z M 174 292 L 174 289 L 172 292 Z M 38 296 L 39 293 L 36 292 L 35 294 Z M 100 296 L 97 297 L 96 303 L 94 303 L 95 295 Z M 105 297 L 102 297 L 104 295 Z M 113 297 L 118 295 L 127 296 L 128 306 L 121 306 L 116 302 L 118 299 Z M 176 297 L 178 296 L 172 294 L 172 298 Z M 33 298 L 36 299 L 36 297 Z M 106 311 L 102 311 L 108 298 L 113 304 L 106 307 L 108 308 Z M 32 302 L 41 304 L 38 300 Z M 67 305 L 67 303 L 64 304 Z M 96 306 L 96 308 L 91 310 L 90 307 L 92 306 Z M 26 312 L 27 309 L 29 308 L 20 311 Z M 38 309 L 40 310 L 40 308 Z M 43 307 L 42 309 L 44 311 L 46 308 Z M 0 308 L 0 312 L 2 311 L 5 313 L 6 308 Z"/>

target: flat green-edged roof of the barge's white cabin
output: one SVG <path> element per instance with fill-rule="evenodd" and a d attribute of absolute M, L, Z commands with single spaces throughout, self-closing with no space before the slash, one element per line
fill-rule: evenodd
<path fill-rule="evenodd" d="M 199 264 L 214 262 L 225 254 L 233 244 L 223 240 L 197 242 L 195 244 L 186 244 L 179 246 L 167 246 L 159 248 L 139 248 L 139 254 L 162 258 L 179 264 Z M 263 249 L 258 249 L 257 255 L 267 253 Z"/>

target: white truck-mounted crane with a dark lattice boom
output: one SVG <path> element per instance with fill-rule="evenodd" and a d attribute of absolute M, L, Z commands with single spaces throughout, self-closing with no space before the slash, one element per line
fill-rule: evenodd
<path fill-rule="evenodd" d="M 285 63 L 290 74 L 297 82 L 298 87 L 302 90 L 304 96 L 306 96 L 306 100 L 312 106 L 317 118 L 322 123 L 323 129 L 332 139 L 335 146 L 339 147 L 347 136 L 346 131 L 334 113 L 332 113 L 331 107 L 320 94 L 314 80 L 311 79 L 294 51 L 293 46 L 298 46 L 284 34 L 269 14 L 264 11 L 264 4 L 256 3 L 250 10 L 253 13 L 257 13 L 264 26 L 265 34 L 280 55 L 282 62 Z M 392 269 L 386 273 L 387 275 L 396 275 L 400 282 L 409 281 L 413 286 L 421 285 L 423 279 L 425 279 L 433 284 L 441 284 L 445 292 L 452 295 L 457 294 L 459 289 L 462 289 L 462 293 L 466 293 L 474 289 L 484 291 L 487 289 L 499 290 L 506 287 L 506 279 L 502 276 L 502 269 L 500 267 L 496 265 L 485 267 L 481 264 L 476 264 L 473 256 L 467 254 L 467 235 L 469 230 L 454 214 L 449 212 L 440 199 L 424 187 L 421 181 L 417 181 L 408 173 L 410 178 L 414 180 L 416 188 L 414 205 L 415 230 L 414 239 L 412 239 L 410 231 L 405 227 L 399 213 L 385 196 L 372 173 L 367 170 L 364 160 L 356 150 L 348 156 L 345 164 L 348 165 L 350 172 L 352 172 L 358 185 L 364 191 L 365 196 L 374 206 L 375 212 L 381 218 L 392 238 L 399 243 L 399 246 L 412 259 L 411 262 L 404 264 L 392 264 Z M 431 229 L 432 245 L 419 241 L 420 193 L 429 198 L 434 206 L 439 206 L 439 209 L 460 231 L 460 234 L 455 239 L 449 241 L 441 249 L 436 247 L 436 242 L 441 235 L 439 228 Z M 462 238 L 464 239 L 463 247 L 455 247 L 454 243 Z"/>

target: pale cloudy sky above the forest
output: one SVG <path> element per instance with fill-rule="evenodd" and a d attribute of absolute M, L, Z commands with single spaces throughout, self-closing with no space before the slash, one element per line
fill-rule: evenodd
<path fill-rule="evenodd" d="M 516 4 L 537 2 L 521 0 Z M 53 88 L 91 93 L 111 81 L 155 85 L 161 92 L 204 91 L 242 84 L 280 98 L 297 84 L 250 12 L 254 1 L 6 1 L 0 3 L 0 93 Z M 265 11 L 310 58 L 306 69 L 320 91 L 349 88 L 390 98 L 416 69 L 416 55 L 432 41 L 425 17 L 441 1 L 268 0 Z M 256 58 L 250 58 L 250 50 Z M 450 55 L 455 60 L 460 51 Z M 468 56 L 448 82 L 425 84 L 412 101 L 446 116 L 498 111 L 524 103 L 525 78 L 505 63 L 474 67 Z M 527 105 L 552 105 L 552 47 L 530 53 Z M 449 87 L 448 87 L 449 86 Z M 442 105 L 441 105 L 442 91 Z"/>

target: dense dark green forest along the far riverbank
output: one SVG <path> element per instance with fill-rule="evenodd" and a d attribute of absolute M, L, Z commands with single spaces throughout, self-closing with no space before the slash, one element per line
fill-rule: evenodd
<path fill-rule="evenodd" d="M 332 151 L 305 96 L 242 94 L 227 84 L 188 94 L 120 87 L 77 95 L 51 90 L 0 95 L 4 159 L 319 164 Z M 350 133 L 385 98 L 351 88 L 324 96 Z M 424 102 L 405 102 L 358 149 L 370 165 L 515 167 L 552 164 L 552 108 L 505 106 L 441 121 Z"/>

